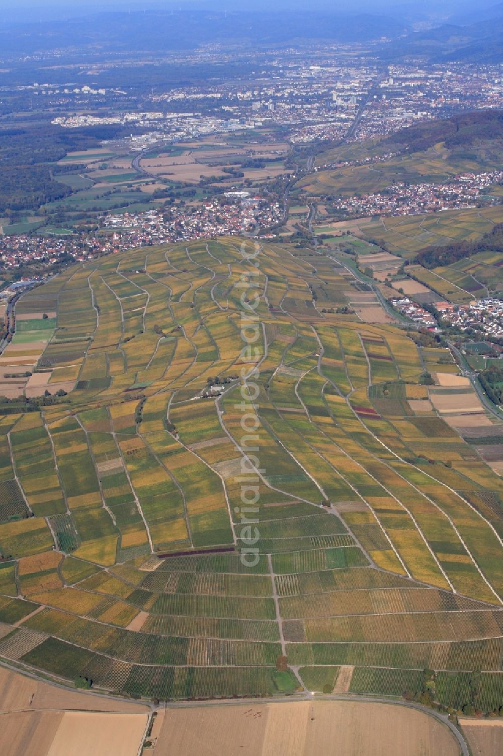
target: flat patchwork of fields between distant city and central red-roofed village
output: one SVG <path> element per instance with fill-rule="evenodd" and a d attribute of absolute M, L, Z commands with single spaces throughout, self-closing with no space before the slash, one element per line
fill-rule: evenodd
<path fill-rule="evenodd" d="M 57 181 L 71 193 L 48 201 L 33 215 L 2 226 L 4 234 L 37 230 L 42 235 L 66 236 L 91 229 L 105 212 L 116 215 L 146 212 L 174 203 L 197 204 L 214 187 L 258 188 L 268 179 L 289 175 L 285 161 L 289 144 L 271 138 L 270 129 L 207 136 L 181 144 L 153 146 L 143 153 L 128 147 L 93 147 L 69 152 L 58 161 Z M 246 182 L 246 184 L 244 184 Z M 293 230 L 293 229 L 292 229 Z"/>

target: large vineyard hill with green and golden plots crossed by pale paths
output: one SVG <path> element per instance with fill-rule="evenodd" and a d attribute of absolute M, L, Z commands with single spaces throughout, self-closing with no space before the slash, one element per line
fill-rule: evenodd
<path fill-rule="evenodd" d="M 478 670 L 503 705 L 503 429 L 449 352 L 337 314 L 350 275 L 233 238 L 17 302 L 51 329 L 1 359 L 69 393 L 2 404 L 0 658 L 158 699 L 402 696 L 432 668 L 462 706 Z"/>

